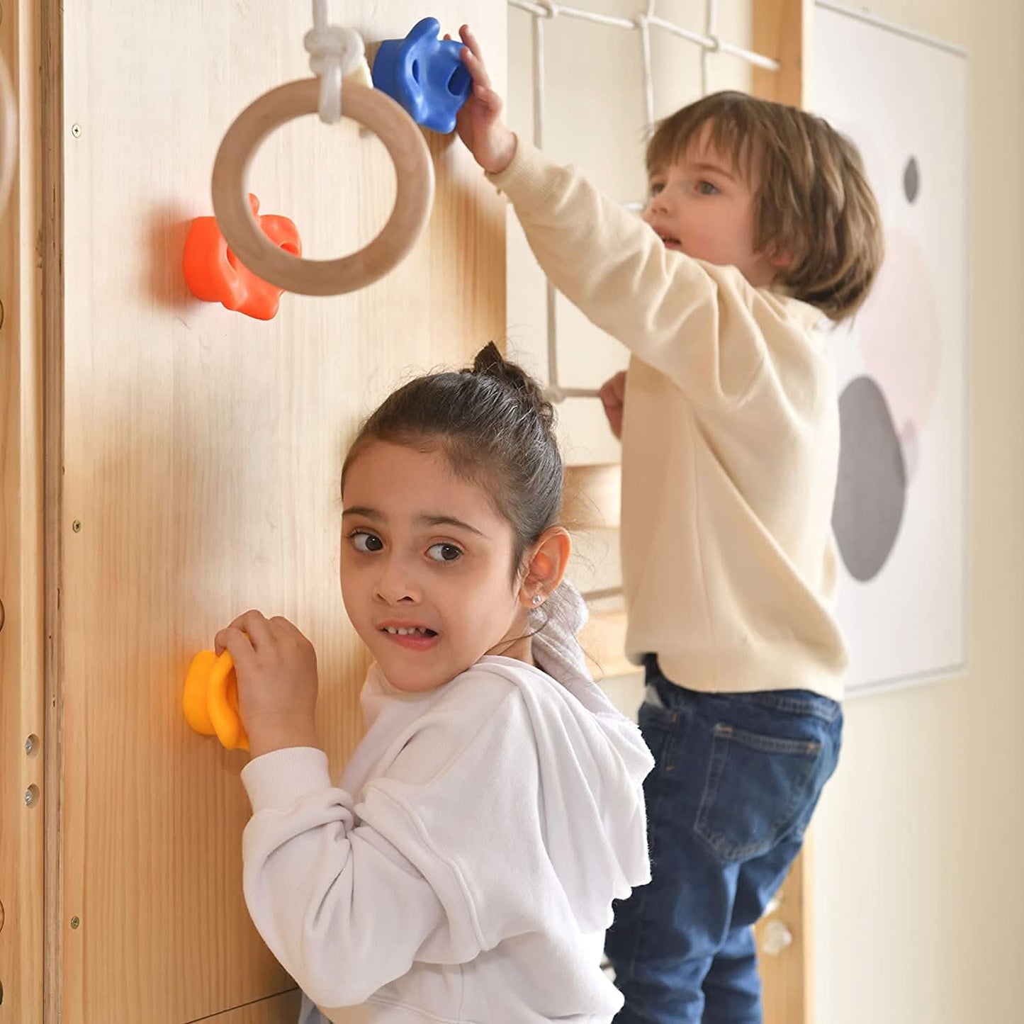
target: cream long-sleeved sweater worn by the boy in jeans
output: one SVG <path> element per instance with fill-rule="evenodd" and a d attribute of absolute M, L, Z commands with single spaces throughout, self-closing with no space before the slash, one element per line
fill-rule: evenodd
<path fill-rule="evenodd" d="M 492 181 L 542 269 L 633 353 L 623 424 L 627 653 L 691 689 L 842 695 L 831 612 L 836 382 L 817 310 L 667 250 L 519 140 Z"/>

